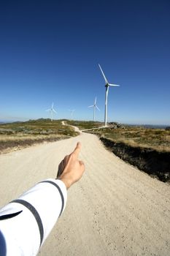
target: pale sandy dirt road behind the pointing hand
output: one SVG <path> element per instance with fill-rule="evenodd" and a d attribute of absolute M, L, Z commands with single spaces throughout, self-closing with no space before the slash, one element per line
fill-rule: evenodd
<path fill-rule="evenodd" d="M 66 209 L 39 255 L 170 255 L 170 186 L 115 157 L 94 135 L 1 155 L 1 206 L 55 177 L 78 140 L 85 174 L 69 189 Z"/>

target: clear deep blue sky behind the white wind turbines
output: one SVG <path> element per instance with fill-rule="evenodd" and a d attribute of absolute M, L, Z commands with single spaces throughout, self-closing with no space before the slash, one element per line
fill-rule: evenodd
<path fill-rule="evenodd" d="M 0 120 L 170 124 L 170 1 L 1 1 Z"/>

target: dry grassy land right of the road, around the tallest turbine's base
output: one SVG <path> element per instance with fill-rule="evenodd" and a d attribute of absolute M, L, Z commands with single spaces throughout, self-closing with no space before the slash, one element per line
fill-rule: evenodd
<path fill-rule="evenodd" d="M 93 121 L 66 121 L 67 124 L 90 129 L 90 132 L 99 138 L 107 138 L 116 143 L 125 143 L 128 146 L 152 148 L 158 151 L 170 152 L 170 130 L 148 129 L 144 127 L 131 127 L 117 123 L 110 123 L 104 127 L 104 123 Z M 100 128 L 101 127 L 101 128 Z M 98 128 L 98 129 L 96 129 Z"/>

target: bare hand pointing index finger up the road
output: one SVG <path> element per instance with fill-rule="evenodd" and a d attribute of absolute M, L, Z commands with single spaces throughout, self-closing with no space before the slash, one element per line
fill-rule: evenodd
<path fill-rule="evenodd" d="M 60 165 L 58 165 L 57 178 L 63 181 L 67 189 L 69 189 L 72 184 L 79 181 L 85 171 L 84 163 L 78 159 L 80 149 L 81 143 L 78 142 L 74 151 L 64 157 Z"/>

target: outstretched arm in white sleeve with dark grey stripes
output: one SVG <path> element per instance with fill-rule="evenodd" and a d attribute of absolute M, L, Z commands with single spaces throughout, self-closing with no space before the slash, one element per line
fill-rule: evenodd
<path fill-rule="evenodd" d="M 0 210 L 17 216 L 0 220 L 0 230 L 6 240 L 7 255 L 16 252 L 36 255 L 66 206 L 66 186 L 60 180 L 49 179 L 36 184 L 18 200 Z"/>

